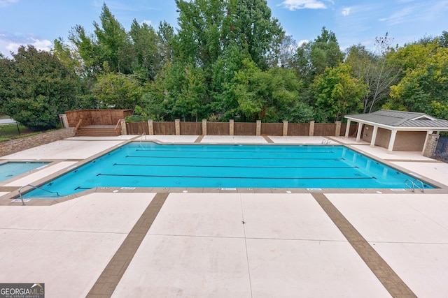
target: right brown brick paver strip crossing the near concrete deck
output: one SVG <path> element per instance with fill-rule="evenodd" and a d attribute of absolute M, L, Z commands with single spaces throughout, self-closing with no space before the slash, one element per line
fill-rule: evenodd
<path fill-rule="evenodd" d="M 323 193 L 311 195 L 392 297 L 417 297 Z"/>

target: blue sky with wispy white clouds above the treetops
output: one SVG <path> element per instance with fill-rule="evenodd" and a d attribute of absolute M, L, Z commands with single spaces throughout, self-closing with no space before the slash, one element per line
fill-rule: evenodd
<path fill-rule="evenodd" d="M 0 0 L 0 52 L 9 56 L 19 45 L 50 50 L 59 36 L 67 40 L 76 24 L 93 32 L 102 4 L 125 27 L 132 20 L 155 28 L 166 20 L 177 27 L 174 0 Z M 448 0 L 267 0 L 272 15 L 297 42 L 313 40 L 325 26 L 344 50 L 353 44 L 372 48 L 374 38 L 388 36 L 404 45 L 448 31 Z"/>

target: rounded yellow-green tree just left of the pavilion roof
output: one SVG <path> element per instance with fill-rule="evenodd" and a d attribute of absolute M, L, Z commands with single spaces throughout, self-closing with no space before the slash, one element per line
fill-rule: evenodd
<path fill-rule="evenodd" d="M 351 67 L 345 64 L 326 68 L 312 87 L 322 120 L 330 122 L 342 120 L 344 114 L 359 112 L 363 107 L 360 99 L 367 92 L 367 85 L 352 77 Z"/>

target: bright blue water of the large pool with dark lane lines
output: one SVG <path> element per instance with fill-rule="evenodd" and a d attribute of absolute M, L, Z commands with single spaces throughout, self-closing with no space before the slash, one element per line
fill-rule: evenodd
<path fill-rule="evenodd" d="M 405 188 L 406 179 L 343 146 L 130 143 L 41 187 Z"/>

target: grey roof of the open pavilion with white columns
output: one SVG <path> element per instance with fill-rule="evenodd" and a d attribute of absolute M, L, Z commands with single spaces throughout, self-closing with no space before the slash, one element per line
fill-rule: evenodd
<path fill-rule="evenodd" d="M 353 121 L 367 121 L 384 126 L 409 128 L 445 128 L 448 129 L 448 120 L 436 119 L 428 114 L 419 112 L 402 112 L 393 110 L 379 110 L 370 114 L 346 115 Z"/>

